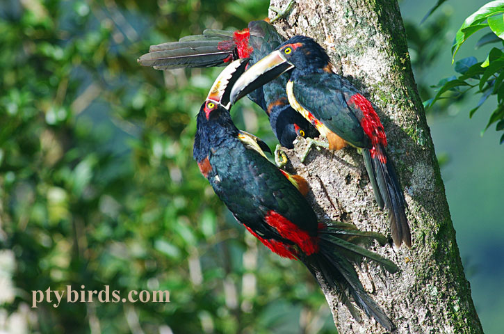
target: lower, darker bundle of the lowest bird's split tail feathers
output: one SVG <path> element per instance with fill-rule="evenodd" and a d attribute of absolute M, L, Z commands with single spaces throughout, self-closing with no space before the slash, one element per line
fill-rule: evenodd
<path fill-rule="evenodd" d="M 360 321 L 360 317 L 350 302 L 348 294 L 368 317 L 373 317 L 389 331 L 396 328 L 382 308 L 364 291 L 354 267 L 345 257 L 341 256 L 337 247 L 334 247 L 333 241 L 320 239 L 320 252 L 301 260 L 315 277 L 319 273 L 327 284 L 339 292 L 341 300 L 357 321 Z"/>

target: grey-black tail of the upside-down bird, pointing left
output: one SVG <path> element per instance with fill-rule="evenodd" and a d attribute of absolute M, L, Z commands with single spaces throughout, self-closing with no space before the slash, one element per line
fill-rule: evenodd
<path fill-rule="evenodd" d="M 172 70 L 221 66 L 237 58 L 232 31 L 206 30 L 203 35 L 186 36 L 179 42 L 152 45 L 148 54 L 138 58 L 138 63 L 156 70 Z"/>

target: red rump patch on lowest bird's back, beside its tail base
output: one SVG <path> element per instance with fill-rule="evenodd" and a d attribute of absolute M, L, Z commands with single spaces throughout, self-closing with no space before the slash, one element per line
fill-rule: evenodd
<path fill-rule="evenodd" d="M 311 237 L 308 232 L 301 230 L 281 214 L 270 210 L 264 220 L 275 228 L 282 237 L 298 245 L 306 255 L 318 252 L 318 238 Z"/>

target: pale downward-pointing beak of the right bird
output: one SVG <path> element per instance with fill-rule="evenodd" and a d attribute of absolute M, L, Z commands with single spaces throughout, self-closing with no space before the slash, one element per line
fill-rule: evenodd
<path fill-rule="evenodd" d="M 272 81 L 280 74 L 294 67 L 282 54 L 282 51 L 273 51 L 268 56 L 252 65 L 241 77 L 238 78 L 231 90 L 231 104 L 242 97 Z"/>

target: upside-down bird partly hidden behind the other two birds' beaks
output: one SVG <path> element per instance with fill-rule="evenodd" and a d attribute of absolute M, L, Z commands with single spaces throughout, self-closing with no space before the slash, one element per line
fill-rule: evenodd
<path fill-rule="evenodd" d="M 181 38 L 179 42 L 153 45 L 138 63 L 156 70 L 180 67 L 211 67 L 226 65 L 238 58 L 249 58 L 253 64 L 278 47 L 285 38 L 266 21 L 252 21 L 242 31 L 207 29 L 203 35 Z M 288 104 L 285 86 L 288 76 L 280 76 L 249 93 L 249 98 L 266 111 L 271 129 L 279 143 L 293 148 L 297 136 L 318 137 L 318 131 Z M 284 164 L 286 157 L 275 150 L 275 161 Z"/>

